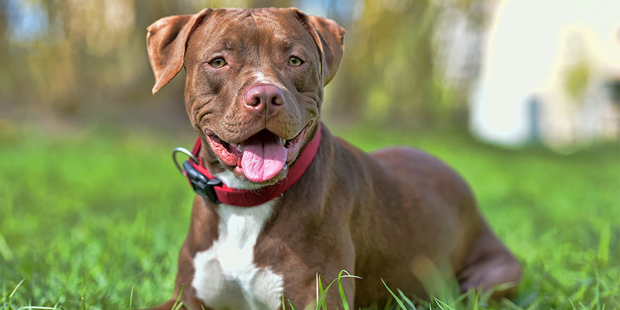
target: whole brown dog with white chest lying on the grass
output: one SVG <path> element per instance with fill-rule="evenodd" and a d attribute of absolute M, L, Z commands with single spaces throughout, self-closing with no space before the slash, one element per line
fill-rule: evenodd
<path fill-rule="evenodd" d="M 344 51 L 333 20 L 295 8 L 205 9 L 148 30 L 153 92 L 187 70 L 199 158 L 225 184 L 215 199 L 234 201 L 222 189 L 237 189 L 258 204 L 196 197 L 173 298 L 156 309 L 171 309 L 181 290 L 187 309 L 278 309 L 282 294 L 305 309 L 316 275 L 342 269 L 363 278 L 343 281 L 355 308 L 390 298 L 381 279 L 425 296 L 434 270 L 450 270 L 461 290 L 519 283 L 519 263 L 449 167 L 415 149 L 365 154 L 321 126 L 323 86 Z M 337 290 L 327 304 L 342 306 Z"/>

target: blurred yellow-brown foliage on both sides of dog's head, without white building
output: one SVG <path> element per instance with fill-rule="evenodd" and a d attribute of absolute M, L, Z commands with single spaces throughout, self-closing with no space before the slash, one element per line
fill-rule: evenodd
<path fill-rule="evenodd" d="M 328 114 L 378 123 L 450 121 L 466 110 L 469 86 L 445 82 L 442 44 L 434 37 L 450 31 L 440 23 L 447 11 L 459 12 L 481 34 L 488 2 L 0 0 L 0 113 L 92 117 L 92 111 L 116 109 L 113 115 L 142 103 L 182 102 L 182 81 L 151 97 L 148 25 L 209 6 L 299 6 L 348 30 L 345 58 L 328 87 Z M 476 76 L 477 69 L 466 84 Z"/>

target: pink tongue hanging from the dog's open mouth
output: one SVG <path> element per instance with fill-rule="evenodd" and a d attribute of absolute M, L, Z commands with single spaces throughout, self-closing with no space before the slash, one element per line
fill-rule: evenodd
<path fill-rule="evenodd" d="M 286 161 L 286 148 L 280 138 L 263 130 L 242 142 L 243 174 L 252 182 L 263 182 L 277 175 Z"/>

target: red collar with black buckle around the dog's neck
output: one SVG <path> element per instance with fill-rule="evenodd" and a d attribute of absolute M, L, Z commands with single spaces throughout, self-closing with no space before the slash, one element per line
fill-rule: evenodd
<path fill-rule="evenodd" d="M 297 161 L 295 161 L 294 165 L 289 168 L 289 171 L 286 175 L 286 178 L 280 180 L 280 182 L 275 183 L 274 185 L 268 185 L 261 187 L 257 190 L 237 190 L 235 188 L 227 187 L 223 185 L 218 179 L 213 178 L 211 173 L 202 166 L 202 159 L 199 159 L 199 163 L 195 163 L 191 159 L 187 160 L 187 163 L 190 163 L 192 168 L 194 168 L 197 172 L 201 173 L 204 178 L 209 181 L 209 185 L 206 189 L 206 193 L 204 190 L 199 191 L 192 184 L 192 180 L 190 178 L 190 171 L 186 171 L 185 175 L 187 179 L 190 181 L 190 185 L 194 188 L 194 190 L 201 194 L 202 196 L 211 199 L 213 202 L 222 203 L 222 204 L 230 204 L 232 206 L 257 206 L 259 204 L 264 204 L 265 202 L 274 199 L 275 197 L 280 196 L 288 190 L 299 178 L 302 177 L 306 169 L 312 163 L 312 159 L 316 155 L 316 151 L 318 150 L 318 144 L 321 143 L 321 124 L 318 125 L 316 130 L 316 135 L 308 142 L 306 147 L 304 147 L 302 154 L 299 154 L 297 157 Z M 194 144 L 194 149 L 192 150 L 192 154 L 198 157 L 198 153 L 200 151 L 200 146 L 202 144 L 202 140 L 198 138 L 196 140 L 196 144 Z M 184 165 L 185 166 L 185 165 Z M 198 178 L 201 176 L 198 175 Z M 194 176 L 195 178 L 195 176 Z M 204 180 L 204 179 L 203 179 Z M 215 197 L 210 197 L 210 196 Z M 208 197 L 209 196 L 209 197 Z"/>

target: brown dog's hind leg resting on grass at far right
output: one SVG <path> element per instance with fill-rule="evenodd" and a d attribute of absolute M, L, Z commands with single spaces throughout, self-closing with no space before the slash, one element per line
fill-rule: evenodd
<path fill-rule="evenodd" d="M 473 243 L 467 264 L 458 275 L 461 290 L 495 290 L 492 299 L 512 294 L 521 280 L 521 265 L 486 223 Z"/>

